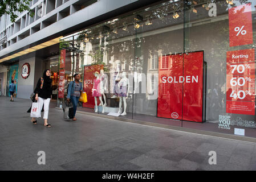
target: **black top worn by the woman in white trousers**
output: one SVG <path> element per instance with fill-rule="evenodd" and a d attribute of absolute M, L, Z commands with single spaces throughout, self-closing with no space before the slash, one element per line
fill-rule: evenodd
<path fill-rule="evenodd" d="M 40 89 L 41 86 L 41 78 L 39 78 L 34 93 L 38 93 L 38 97 L 47 99 L 51 98 L 52 95 L 52 86 L 51 82 L 43 81 L 43 88 Z"/>

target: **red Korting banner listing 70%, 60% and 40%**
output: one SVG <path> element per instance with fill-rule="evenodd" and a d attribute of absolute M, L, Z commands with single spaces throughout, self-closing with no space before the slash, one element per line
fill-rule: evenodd
<path fill-rule="evenodd" d="M 255 115 L 255 50 L 227 52 L 226 113 Z"/>

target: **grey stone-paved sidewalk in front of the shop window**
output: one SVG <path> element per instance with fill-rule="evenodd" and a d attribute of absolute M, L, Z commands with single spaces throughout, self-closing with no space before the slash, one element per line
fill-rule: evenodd
<path fill-rule="evenodd" d="M 0 97 L 0 170 L 255 170 L 256 144 L 77 114 L 49 123 L 26 113 L 30 100 Z M 46 153 L 39 165 L 38 151 Z M 210 165 L 209 151 L 217 164 Z"/>

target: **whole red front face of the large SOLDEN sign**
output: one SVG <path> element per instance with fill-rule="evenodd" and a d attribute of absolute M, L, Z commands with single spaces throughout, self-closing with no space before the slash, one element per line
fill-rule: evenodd
<path fill-rule="evenodd" d="M 159 57 L 157 117 L 202 122 L 204 52 Z"/>

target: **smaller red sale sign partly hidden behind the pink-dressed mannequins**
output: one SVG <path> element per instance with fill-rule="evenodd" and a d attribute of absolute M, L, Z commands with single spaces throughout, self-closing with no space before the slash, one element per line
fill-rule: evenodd
<path fill-rule="evenodd" d="M 92 97 L 92 88 L 94 86 L 94 73 L 97 71 L 100 73 L 100 69 L 103 69 L 103 65 L 87 65 L 84 66 L 84 92 L 87 95 L 87 102 L 83 103 L 83 107 L 94 108 L 95 102 Z M 99 99 L 97 103 L 100 104 Z"/>

